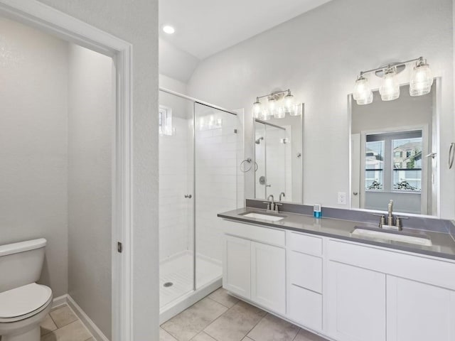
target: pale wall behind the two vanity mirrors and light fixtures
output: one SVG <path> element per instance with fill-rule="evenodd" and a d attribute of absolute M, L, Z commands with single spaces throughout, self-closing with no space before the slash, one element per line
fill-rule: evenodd
<path fill-rule="evenodd" d="M 305 103 L 304 203 L 346 207 L 337 204 L 337 192 L 349 193 L 346 95 L 360 70 L 420 55 L 428 59 L 443 80 L 441 164 L 446 164 L 446 146 L 454 136 L 452 13 L 451 0 L 331 1 L 204 60 L 188 93 L 222 107 L 245 107 L 248 114 L 258 95 L 290 88 Z M 409 73 L 400 80 L 409 81 Z M 245 129 L 252 131 L 252 120 Z M 253 136 L 245 138 L 245 157 L 252 157 Z M 254 195 L 253 176 L 247 174 L 246 197 Z M 443 168 L 441 183 L 455 188 L 454 172 Z M 453 190 L 441 193 L 442 217 L 455 216 L 454 196 Z"/>

